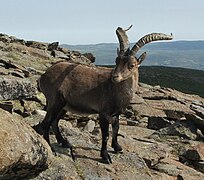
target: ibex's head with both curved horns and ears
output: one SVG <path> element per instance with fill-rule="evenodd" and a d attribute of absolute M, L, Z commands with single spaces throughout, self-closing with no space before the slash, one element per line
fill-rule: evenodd
<path fill-rule="evenodd" d="M 117 49 L 118 57 L 116 58 L 116 67 L 112 74 L 112 81 L 114 83 L 121 82 L 132 77 L 134 74 L 138 74 L 138 67 L 146 57 L 146 52 L 142 53 L 139 58 L 135 55 L 139 49 L 147 43 L 158 40 L 171 40 L 173 35 L 166 35 L 162 33 L 152 33 L 142 37 L 137 43 L 129 49 L 129 41 L 126 34 L 132 25 L 128 29 L 122 29 L 118 27 L 116 34 L 119 40 L 120 49 Z M 138 78 L 138 77 L 136 77 Z"/>

